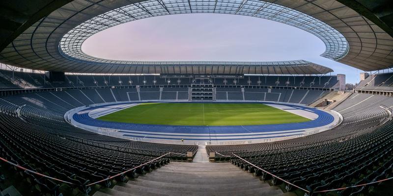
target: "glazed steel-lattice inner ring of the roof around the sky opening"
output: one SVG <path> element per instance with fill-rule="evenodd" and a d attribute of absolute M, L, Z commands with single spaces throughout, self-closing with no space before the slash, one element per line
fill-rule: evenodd
<path fill-rule="evenodd" d="M 84 40 L 91 35 L 109 28 L 114 25 L 134 21 L 142 18 L 167 15 L 171 12 L 175 13 L 191 13 L 193 11 L 206 12 L 206 13 L 227 13 L 237 15 L 251 15 L 254 17 L 266 18 L 269 20 L 281 22 L 288 25 L 293 25 L 298 28 L 304 29 L 317 37 L 319 37 L 326 45 L 327 50 L 322 56 L 337 60 L 346 55 L 349 46 L 345 37 L 340 34 L 336 29 L 329 25 L 315 19 L 302 12 L 287 8 L 278 4 L 259 1 L 259 0 L 191 0 L 191 9 L 188 4 L 188 0 L 162 0 L 163 5 L 157 0 L 147 0 L 141 3 L 135 3 L 123 6 L 121 8 L 114 9 L 106 12 L 99 16 L 88 20 L 81 25 L 78 25 L 61 39 L 59 46 L 62 50 L 62 55 L 66 58 L 76 58 L 92 62 L 105 62 L 105 63 L 119 63 L 126 64 L 130 61 L 116 61 L 107 59 L 98 59 L 86 55 L 81 50 L 82 43 Z M 240 9 L 239 9 L 240 8 Z M 148 62 L 139 62 L 140 64 L 148 65 Z M 182 64 L 191 62 L 182 62 Z M 193 62 L 194 64 L 201 64 L 203 62 Z M 204 62 L 206 63 L 206 62 Z M 211 64 L 217 64 L 217 62 L 209 62 Z M 285 62 L 286 63 L 286 62 Z M 290 62 L 293 64 L 293 62 Z M 299 62 L 304 63 L 304 62 Z M 168 64 L 154 62 L 154 64 Z M 171 62 L 173 64 L 173 62 Z M 231 64 L 226 62 L 225 64 Z M 234 63 L 239 65 L 239 63 Z M 255 63 L 243 63 L 243 64 L 255 64 Z M 261 65 L 278 65 L 279 63 L 258 63 Z"/>

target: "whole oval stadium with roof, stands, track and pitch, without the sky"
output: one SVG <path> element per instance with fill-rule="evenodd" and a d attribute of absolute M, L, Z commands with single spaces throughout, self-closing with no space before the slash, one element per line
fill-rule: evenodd
<path fill-rule="evenodd" d="M 388 0 L 0 2 L 0 196 L 389 196 Z M 163 15 L 230 14 L 320 39 L 306 60 L 132 61 L 91 36 Z"/>

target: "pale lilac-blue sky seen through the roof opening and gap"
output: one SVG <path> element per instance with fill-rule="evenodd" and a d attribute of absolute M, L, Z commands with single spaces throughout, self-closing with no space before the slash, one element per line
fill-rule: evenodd
<path fill-rule="evenodd" d="M 325 44 L 299 28 L 249 16 L 179 14 L 141 19 L 89 37 L 91 56 L 141 61 L 307 60 L 359 82 L 359 69 L 321 57 Z"/>

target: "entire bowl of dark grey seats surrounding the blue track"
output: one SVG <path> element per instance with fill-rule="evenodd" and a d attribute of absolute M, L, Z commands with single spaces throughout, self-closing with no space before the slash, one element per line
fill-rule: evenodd
<path fill-rule="evenodd" d="M 17 74 L 19 78 L 26 76 L 24 73 Z M 37 77 L 36 80 L 39 80 L 38 76 L 40 75 L 34 74 L 32 78 Z M 261 79 L 263 77 L 245 77 L 236 80 L 236 84 L 245 84 L 245 86 L 225 85 L 224 79 L 215 78 L 216 99 L 309 104 L 326 95 L 327 88 L 332 87 L 333 80 L 336 79 L 334 76 L 326 76 L 320 78 L 321 83 L 319 83 L 318 77 L 297 76 L 295 83 L 292 83 L 290 81 L 293 77 L 267 77 L 266 80 Z M 26 79 L 28 83 L 34 83 L 36 80 Z M 0 146 L 3 157 L 33 171 L 44 172 L 78 185 L 86 185 L 131 169 L 167 152 L 179 154 L 163 157 L 115 180 L 124 181 L 126 176 L 137 177 L 139 174 L 167 164 L 170 159 L 186 160 L 186 152 L 197 151 L 197 146 L 194 145 L 147 143 L 99 135 L 71 126 L 63 119 L 66 111 L 90 104 L 132 100 L 187 100 L 189 98 L 187 86 L 160 87 L 156 85 L 158 82 L 167 84 L 168 80 L 154 76 L 67 75 L 66 80 L 68 83 L 42 84 L 46 87 L 92 86 L 92 88 L 62 89 L 0 99 Z M 153 83 L 153 80 L 156 83 Z M 133 81 L 133 85 L 141 86 L 139 88 L 129 86 L 130 83 L 127 83 L 129 81 Z M 151 81 L 151 84 L 147 81 Z M 175 80 L 172 79 L 171 82 L 173 81 Z M 231 84 L 235 83 L 234 79 L 227 79 L 227 81 Z M 177 83 L 187 85 L 188 82 L 191 80 L 182 78 Z M 217 84 L 220 82 L 223 85 Z M 253 82 L 260 87 L 247 86 Z M 37 82 L 35 84 L 38 85 Z M 321 89 L 285 88 L 293 84 Z M 112 85 L 116 87 L 112 88 Z M 393 123 L 390 122 L 389 113 L 383 107 L 379 107 L 380 105 L 391 107 L 393 99 L 377 95 L 353 94 L 335 108 L 342 114 L 343 122 L 331 130 L 286 141 L 207 146 L 206 149 L 207 152 L 219 152 L 216 161 L 230 160 L 244 170 L 261 176 L 262 179 L 272 180 L 274 185 L 280 185 L 282 182 L 237 159 L 232 153 L 309 191 L 385 178 L 392 173 L 389 164 L 393 162 L 390 161 L 391 157 L 385 154 L 392 153 L 393 144 L 390 141 L 393 135 L 388 130 Z M 32 173 L 22 174 L 24 178 L 29 179 L 32 187 L 40 187 L 39 190 L 43 192 L 53 194 L 61 185 L 59 182 L 40 178 Z M 101 183 L 102 186 L 110 186 L 110 184 L 111 180 Z M 295 189 L 285 185 L 288 190 Z M 86 192 L 81 188 L 83 186 L 71 185 L 71 187 Z M 367 192 L 367 187 L 362 190 L 348 189 L 337 194 L 348 195 L 347 192 L 362 191 Z"/>

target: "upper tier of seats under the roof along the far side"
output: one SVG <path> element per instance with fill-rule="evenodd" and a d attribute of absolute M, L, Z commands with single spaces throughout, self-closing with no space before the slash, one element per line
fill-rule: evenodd
<path fill-rule="evenodd" d="M 197 82 L 193 81 L 193 78 L 161 78 L 155 75 L 72 74 L 66 74 L 64 82 L 49 82 L 42 73 L 26 72 L 14 72 L 13 78 L 12 71 L 0 70 L 0 88 L 190 85 Z M 2 80 L 4 80 L 3 85 L 1 85 Z M 14 81 L 15 84 L 10 81 Z M 215 85 L 332 88 L 337 84 L 337 76 L 244 76 L 244 78 L 212 78 L 212 82 Z"/>

